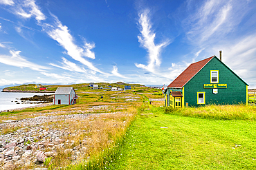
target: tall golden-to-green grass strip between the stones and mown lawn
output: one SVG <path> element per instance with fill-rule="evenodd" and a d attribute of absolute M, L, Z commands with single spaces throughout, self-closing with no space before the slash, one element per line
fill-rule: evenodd
<path fill-rule="evenodd" d="M 118 156 L 127 128 L 136 116 L 137 108 L 129 107 L 120 114 L 102 114 L 90 125 L 89 151 L 75 165 L 66 169 L 109 169 L 110 162 Z M 89 160 L 87 157 L 90 156 Z"/>

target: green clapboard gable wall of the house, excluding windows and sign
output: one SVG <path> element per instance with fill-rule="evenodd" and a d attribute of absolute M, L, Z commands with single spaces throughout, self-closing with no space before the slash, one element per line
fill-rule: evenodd
<path fill-rule="evenodd" d="M 210 70 L 219 70 L 219 84 L 227 84 L 227 88 L 218 89 L 218 94 L 213 94 L 212 89 L 203 88 L 203 84 L 210 84 Z M 189 106 L 198 106 L 197 92 L 205 92 L 205 105 L 246 103 L 246 85 L 215 56 L 185 84 L 184 102 L 188 102 Z"/>

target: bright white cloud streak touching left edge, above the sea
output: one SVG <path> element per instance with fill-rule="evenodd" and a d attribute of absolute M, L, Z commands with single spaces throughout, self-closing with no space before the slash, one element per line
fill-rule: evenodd
<path fill-rule="evenodd" d="M 11 56 L 0 54 L 0 63 L 6 64 L 6 65 L 12 65 L 15 67 L 21 67 L 21 68 L 28 67 L 31 70 L 37 70 L 37 71 L 48 69 L 48 67 L 44 67 L 42 65 L 37 65 L 35 63 L 31 63 L 30 61 L 27 61 L 26 59 L 24 59 L 23 56 L 19 55 L 20 52 L 21 51 L 10 50 Z"/>

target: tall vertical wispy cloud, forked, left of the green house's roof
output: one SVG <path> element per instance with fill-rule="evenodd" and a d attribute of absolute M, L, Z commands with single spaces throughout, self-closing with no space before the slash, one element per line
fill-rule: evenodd
<path fill-rule="evenodd" d="M 140 35 L 138 35 L 138 41 L 140 45 L 148 52 L 148 65 L 135 63 L 136 67 L 143 68 L 149 72 L 156 73 L 155 68 L 161 65 L 160 54 L 163 47 L 170 44 L 170 40 L 165 40 L 163 43 L 156 45 L 154 40 L 156 33 L 152 31 L 152 23 L 149 20 L 150 10 L 146 9 L 140 12 L 138 24 L 140 26 Z"/>

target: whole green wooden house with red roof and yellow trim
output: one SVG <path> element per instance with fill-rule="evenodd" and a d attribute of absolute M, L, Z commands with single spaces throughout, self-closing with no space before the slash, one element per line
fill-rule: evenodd
<path fill-rule="evenodd" d="M 248 104 L 248 84 L 217 56 L 192 63 L 164 94 L 166 107 Z"/>

